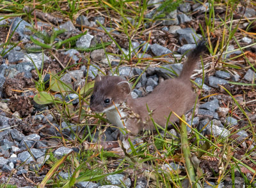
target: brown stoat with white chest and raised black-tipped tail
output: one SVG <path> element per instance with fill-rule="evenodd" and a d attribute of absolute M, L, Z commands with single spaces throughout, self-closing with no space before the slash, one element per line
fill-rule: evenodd
<path fill-rule="evenodd" d="M 165 126 L 171 112 L 181 116 L 195 105 L 196 94 L 191 88 L 190 76 L 197 66 L 200 55 L 207 48 L 200 42 L 192 50 L 180 75 L 177 78 L 164 80 L 153 92 L 142 98 L 131 97 L 129 82 L 118 76 L 97 76 L 90 108 L 93 112 L 106 113 L 111 124 L 127 128 L 130 134 L 137 135 L 143 129 L 154 129 L 154 122 Z M 169 121 L 178 118 L 172 113 Z"/>

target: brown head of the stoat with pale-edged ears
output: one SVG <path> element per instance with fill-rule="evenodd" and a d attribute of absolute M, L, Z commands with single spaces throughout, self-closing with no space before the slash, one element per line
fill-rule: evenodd
<path fill-rule="evenodd" d="M 118 76 L 97 76 L 93 94 L 90 100 L 90 108 L 94 112 L 108 112 L 126 101 L 131 92 L 129 82 Z"/>

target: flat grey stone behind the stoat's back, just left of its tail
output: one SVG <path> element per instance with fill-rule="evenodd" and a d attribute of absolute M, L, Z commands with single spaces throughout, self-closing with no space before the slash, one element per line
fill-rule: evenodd
<path fill-rule="evenodd" d="M 157 73 L 158 76 L 161 76 L 163 78 L 172 78 L 169 75 L 172 76 L 177 76 L 180 75 L 180 72 L 182 70 L 183 65 L 180 63 L 176 63 L 176 64 L 165 64 L 161 67 L 157 67 L 155 68 L 155 71 Z M 170 70 L 170 71 L 169 71 Z M 175 73 L 173 73 L 173 71 L 175 71 L 175 73 L 177 73 L 177 75 L 175 75 Z"/>

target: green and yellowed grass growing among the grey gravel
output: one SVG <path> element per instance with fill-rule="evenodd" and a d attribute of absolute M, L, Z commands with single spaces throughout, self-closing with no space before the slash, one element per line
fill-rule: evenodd
<path fill-rule="evenodd" d="M 42 69 L 36 69 L 38 74 L 38 80 L 36 83 L 36 96 L 35 100 L 37 103 L 47 104 L 51 107 L 51 113 L 54 115 L 54 118 L 58 120 L 58 124 L 61 122 L 67 122 L 70 132 L 74 135 L 72 139 L 67 139 L 63 134 L 64 128 L 60 127 L 58 130 L 61 136 L 54 137 L 60 141 L 60 145 L 67 147 L 77 147 L 79 152 L 72 152 L 66 157 L 57 159 L 52 154 L 52 148 L 48 149 L 47 152 L 50 154 L 50 159 L 47 161 L 47 175 L 44 180 L 40 182 L 40 186 L 44 187 L 71 187 L 74 186 L 77 182 L 81 181 L 93 181 L 99 182 L 100 184 L 106 184 L 106 176 L 115 174 L 115 173 L 129 173 L 131 174 L 132 180 L 136 182 L 141 175 L 147 177 L 150 181 L 150 187 L 181 187 L 184 180 L 188 182 L 193 182 L 196 184 L 194 187 L 204 187 L 204 183 L 214 182 L 216 186 L 223 182 L 225 178 L 231 178 L 232 182 L 235 180 L 235 173 L 239 173 L 244 179 L 244 184 L 246 187 L 253 187 L 255 180 L 248 180 L 246 173 L 255 175 L 255 159 L 253 158 L 253 151 L 246 148 L 244 149 L 243 155 L 241 158 L 234 155 L 237 153 L 237 150 L 241 149 L 241 144 L 246 143 L 247 145 L 253 144 L 255 142 L 255 124 L 250 120 L 248 113 L 253 112 L 252 106 L 246 106 L 237 101 L 236 96 L 228 90 L 226 87 L 221 87 L 221 94 L 230 96 L 231 101 L 228 104 L 230 112 L 228 116 L 234 117 L 239 116 L 240 122 L 246 122 L 246 125 L 239 127 L 239 129 L 234 129 L 232 127 L 226 127 L 230 134 L 223 137 L 214 137 L 213 135 L 204 136 L 201 134 L 201 131 L 191 127 L 191 133 L 186 133 L 187 122 L 181 120 L 180 125 L 173 125 L 173 129 L 179 135 L 173 135 L 172 131 L 166 127 L 160 127 L 156 123 L 156 133 L 152 131 L 147 131 L 140 136 L 143 140 L 146 140 L 145 143 L 137 146 L 131 145 L 131 151 L 125 152 L 124 156 L 118 155 L 118 153 L 113 151 L 107 151 L 101 148 L 102 143 L 98 140 L 96 143 L 87 143 L 87 140 L 92 140 L 95 131 L 99 131 L 99 134 L 103 134 L 106 129 L 111 126 L 108 124 L 105 116 L 103 114 L 90 113 L 86 105 L 90 101 L 90 93 L 92 92 L 93 82 L 90 82 L 88 75 L 85 78 L 85 86 L 75 90 L 72 85 L 64 83 L 61 81 L 61 76 L 68 71 L 71 71 L 76 66 L 85 65 L 86 67 L 93 64 L 90 61 L 90 53 L 92 50 L 97 48 L 103 48 L 107 55 L 114 55 L 115 57 L 120 58 L 120 63 L 118 65 L 122 66 L 127 64 L 128 66 L 138 66 L 143 67 L 144 70 L 141 75 L 146 71 L 149 66 L 156 66 L 159 62 L 156 57 L 151 59 L 138 58 L 138 53 L 136 49 L 132 48 L 132 40 L 143 40 L 148 43 L 152 42 L 152 36 L 154 33 L 147 33 L 148 27 L 154 29 L 154 23 L 157 20 L 163 18 L 163 14 L 168 13 L 170 10 L 175 10 L 176 4 L 171 1 L 165 1 L 162 6 L 160 6 L 163 14 L 155 15 L 152 18 L 145 18 L 146 13 L 148 13 L 147 1 L 78 1 L 78 0 L 43 0 L 43 1 L 0 1 L 4 6 L 0 8 L 0 13 L 3 18 L 10 18 L 21 16 L 24 20 L 28 21 L 33 25 L 33 33 L 37 34 L 38 38 L 44 40 L 44 43 L 36 40 L 31 36 L 31 41 L 40 47 L 39 51 L 45 52 L 47 55 L 51 55 L 54 58 L 54 54 L 60 52 L 61 50 L 67 50 L 65 46 L 66 43 L 73 42 L 77 40 L 79 36 L 82 36 L 82 33 L 79 36 L 73 36 L 67 40 L 63 40 L 60 43 L 56 43 L 54 40 L 58 37 L 62 31 L 53 32 L 52 34 L 41 33 L 36 30 L 35 17 L 32 12 L 24 12 L 23 8 L 25 6 L 33 7 L 35 6 L 36 10 L 41 10 L 44 13 L 52 13 L 54 16 L 63 18 L 64 20 L 70 19 L 75 23 L 76 18 L 83 15 L 104 15 L 108 21 L 108 25 L 97 24 L 102 27 L 106 35 L 111 39 L 109 43 L 104 43 L 101 41 L 98 45 L 88 49 L 77 49 L 80 50 L 86 59 L 86 61 L 79 62 L 76 65 L 67 64 L 63 67 L 63 71 L 60 73 L 50 73 L 49 71 L 42 71 Z M 199 2 L 199 1 L 198 1 Z M 201 2 L 199 2 L 201 3 Z M 245 62 L 247 64 L 247 69 L 252 68 L 256 72 L 255 64 L 249 61 L 248 56 L 246 55 L 246 50 L 248 47 L 255 45 L 255 42 L 250 45 L 241 46 L 239 34 L 248 34 L 252 28 L 253 20 L 249 20 L 249 25 L 244 31 L 239 30 L 239 25 L 241 24 L 241 19 L 234 19 L 234 10 L 237 9 L 239 5 L 238 1 L 208 1 L 210 4 L 209 13 L 205 13 L 205 23 L 199 24 L 200 31 L 204 38 L 209 41 L 209 52 L 211 53 L 212 68 L 216 67 L 218 69 L 225 69 L 231 71 L 232 73 L 240 73 L 239 71 L 246 71 L 244 66 L 240 64 L 232 64 L 230 62 L 236 61 L 237 57 L 230 57 L 228 59 L 222 58 L 222 55 L 225 57 L 227 48 L 229 45 L 234 45 L 235 50 L 241 50 Z M 201 3 L 202 4 L 202 3 Z M 253 4 L 253 3 L 252 3 Z M 255 5 L 255 3 L 254 3 Z M 224 16 L 216 14 L 215 8 L 218 6 L 225 7 Z M 150 10 L 152 11 L 152 10 Z M 161 17 L 162 16 L 162 17 Z M 36 19 L 38 21 L 38 18 Z M 115 21 L 114 21 L 115 20 Z M 148 24 L 148 25 L 146 25 Z M 119 35 L 116 36 L 112 32 L 106 30 L 106 26 L 111 27 L 119 32 Z M 146 27 L 147 26 L 147 27 Z M 156 27 L 157 29 L 157 27 Z M 9 34 L 7 42 L 3 45 L 4 50 L 10 45 L 10 39 L 12 38 L 13 33 Z M 215 38 L 216 42 L 212 43 L 210 38 Z M 124 53 L 120 45 L 120 39 L 127 42 L 128 54 Z M 116 45 L 116 48 L 119 50 L 119 54 L 113 54 L 107 52 L 106 47 L 111 45 L 111 43 Z M 20 43 L 13 44 L 13 47 L 19 45 Z M 10 48 L 12 50 L 12 48 Z M 29 51 L 29 49 L 27 49 Z M 35 52 L 35 49 L 30 49 L 30 52 Z M 38 49 L 37 49 L 38 50 Z M 233 50 L 233 51 L 235 51 Z M 6 54 L 7 52 L 2 52 L 1 55 Z M 143 53 L 143 52 L 139 52 Z M 180 60 L 173 58 L 175 61 L 184 61 L 184 57 Z M 209 66 L 203 64 L 203 71 L 199 76 L 202 78 L 205 77 L 211 69 Z M 44 64 L 42 64 L 44 66 Z M 111 73 L 118 74 L 118 67 L 116 69 L 111 68 L 111 62 L 109 62 L 109 71 Z M 51 80 L 49 80 L 50 86 L 47 87 L 44 82 L 44 76 L 48 73 L 51 75 Z M 141 75 L 137 78 L 131 78 L 129 80 L 132 83 L 132 88 L 136 86 L 136 83 L 140 80 Z M 204 80 L 204 79 L 203 79 Z M 248 90 L 255 92 L 255 83 L 234 83 L 229 82 L 232 85 L 237 87 L 243 87 L 244 95 Z M 202 89 L 202 85 L 197 85 L 196 90 Z M 70 105 L 64 100 L 54 98 L 54 94 L 59 93 L 63 96 L 67 96 L 70 93 L 76 93 L 79 97 L 79 105 L 74 108 L 73 105 Z M 211 93 L 212 94 L 212 93 Z M 199 96 L 200 98 L 211 98 L 209 96 Z M 214 95 L 214 94 L 212 94 Z M 76 120 L 79 120 L 77 122 Z M 154 119 L 152 119 L 154 122 Z M 49 122 L 51 123 L 51 122 Z M 211 123 L 209 123 L 211 126 Z M 72 129 L 76 126 L 77 129 Z M 85 127 L 81 131 L 80 127 Z M 236 136 L 238 131 L 244 130 L 249 136 L 243 141 L 239 141 Z M 165 171 L 161 169 L 163 164 L 173 163 L 181 164 L 185 167 L 184 170 L 172 170 Z M 211 163 L 216 161 L 218 171 L 210 171 L 210 177 L 207 177 L 203 173 L 203 170 L 200 168 L 198 161 L 204 163 L 205 161 Z M 112 164 L 117 164 L 115 168 Z M 70 173 L 70 178 L 64 180 L 60 178 L 58 173 L 60 171 Z M 72 173 L 73 172 L 73 173 Z M 191 184 L 189 184 L 191 185 Z M 12 187 L 12 185 L 1 185 L 0 187 Z M 15 186 L 13 186 L 15 187 Z M 134 186 L 135 187 L 135 186 Z"/>

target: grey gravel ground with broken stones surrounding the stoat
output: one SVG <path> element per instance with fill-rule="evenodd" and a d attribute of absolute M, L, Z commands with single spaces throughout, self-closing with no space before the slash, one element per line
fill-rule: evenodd
<path fill-rule="evenodd" d="M 92 139 L 86 137 L 88 135 L 86 126 L 93 127 L 95 124 L 106 124 L 106 122 L 94 116 L 86 102 L 81 105 L 79 88 L 92 82 L 98 73 L 118 74 L 130 80 L 131 84 L 136 83 L 138 76 L 141 76 L 131 93 L 133 98 L 140 98 L 152 92 L 159 80 L 179 75 L 186 52 L 195 48 L 196 41 L 204 35 L 199 25 L 201 24 L 203 29 L 206 28 L 205 11 L 209 13 L 207 3 L 186 2 L 166 15 L 164 20 L 147 24 L 142 34 L 135 35 L 131 43 L 122 31 L 118 31 L 115 24 L 110 24 L 111 18 L 105 14 L 94 13 L 90 16 L 89 13 L 86 16 L 83 13 L 73 23 L 60 18 L 47 20 L 47 23 L 44 19 L 37 18 L 36 25 L 35 23 L 31 25 L 26 17 L 1 19 L 0 25 L 4 26 L 0 27 L 0 182 L 8 182 L 17 187 L 35 187 L 51 169 L 52 163 L 49 162 L 51 157 L 60 159 L 70 152 L 77 154 L 81 152 L 82 148 L 77 136 L 83 141 L 93 143 L 100 139 L 115 143 L 116 129 L 112 126 L 97 126 L 91 133 L 95 136 Z M 157 5 L 148 6 L 148 10 L 152 11 L 148 11 L 145 18 L 152 17 Z M 225 17 L 225 11 L 225 6 L 216 8 L 220 18 Z M 235 15 L 237 19 L 242 16 L 255 19 L 255 7 L 249 6 L 243 14 L 243 6 L 237 6 Z M 220 18 L 216 17 L 215 22 L 220 22 Z M 132 19 L 130 20 L 132 23 Z M 104 25 L 111 37 L 98 22 Z M 246 30 L 248 24 L 248 20 L 243 19 L 239 23 L 239 29 Z M 30 27 L 35 29 L 37 27 L 38 31 L 49 33 L 49 36 L 53 33 L 53 29 L 65 29 L 65 33 L 54 38 L 55 43 L 52 43 L 51 49 L 45 48 L 44 52 L 35 53 L 33 49 L 38 49 L 38 45 L 30 36 L 42 43 L 45 41 Z M 58 41 L 81 34 L 82 29 L 87 33 L 76 40 L 74 47 L 70 46 L 68 50 L 69 47 L 54 46 Z M 196 117 L 192 122 L 191 120 L 188 122 L 201 131 L 201 134 L 211 135 L 213 140 L 214 138 L 236 140 L 232 146 L 232 155 L 242 159 L 249 151 L 252 160 L 244 159 L 243 163 L 255 170 L 253 160 L 256 159 L 256 152 L 253 133 L 256 122 L 256 93 L 252 83 L 256 74 L 252 65 L 255 65 L 256 45 L 253 45 L 255 36 L 250 34 L 255 32 L 255 26 L 252 24 L 246 33 L 242 30 L 237 30 L 236 34 L 236 40 L 239 41 L 241 48 L 237 46 L 235 40 L 231 40 L 227 50 L 218 49 L 216 54 L 204 55 L 204 73 L 201 66 L 192 77 L 194 83 L 197 83 L 193 87 L 198 92 L 200 106 Z M 211 35 L 211 40 L 215 40 L 216 45 L 222 33 L 216 31 Z M 102 42 L 110 43 L 105 48 L 90 52 L 79 50 L 82 47 L 95 47 Z M 241 55 L 242 53 L 244 55 Z M 63 71 L 66 67 L 69 67 L 67 71 Z M 38 69 L 42 71 L 37 71 Z M 49 83 L 52 83 L 52 75 L 56 73 L 61 73 L 58 75 L 60 83 L 65 83 L 72 89 L 65 90 L 64 94 L 58 92 L 60 89 L 52 90 Z M 62 91 L 65 88 L 61 88 Z M 86 114 L 83 116 L 83 121 L 77 119 L 77 113 L 72 115 L 70 115 L 71 111 L 67 113 L 65 108 L 59 105 L 60 103 L 35 103 L 33 98 L 42 90 L 51 93 L 55 101 L 61 101 L 61 104 L 65 103 L 69 109 L 72 108 L 72 112 L 77 112 L 76 110 L 83 106 L 83 112 Z M 84 95 L 84 101 L 89 101 L 89 96 L 89 94 Z M 179 138 L 176 129 L 170 127 L 168 130 Z M 193 133 L 193 130 L 188 127 L 188 132 Z M 148 140 L 144 139 L 144 141 Z M 208 178 L 209 183 L 205 183 L 205 187 L 214 185 L 214 175 L 220 173 L 218 157 L 220 156 L 216 154 L 216 157 L 211 159 L 209 157 L 201 159 L 200 168 L 206 174 L 205 178 Z M 184 171 L 182 163 L 177 167 L 178 163 L 174 162 L 161 164 L 159 168 L 166 170 L 167 173 L 178 168 Z M 73 172 L 59 169 L 56 174 L 61 180 L 65 180 L 70 178 Z M 254 181 L 252 171 L 242 168 L 242 173 L 249 182 Z M 234 176 L 237 181 L 236 187 L 243 187 L 245 182 L 241 173 L 236 171 Z M 109 175 L 105 182 L 111 185 L 97 181 L 82 181 L 77 183 L 76 187 L 119 187 L 122 184 L 126 187 L 134 186 L 134 179 L 129 173 Z M 225 178 L 218 185 L 218 187 L 224 186 L 232 187 L 230 177 Z M 136 187 L 150 187 L 147 177 L 139 178 Z"/>

